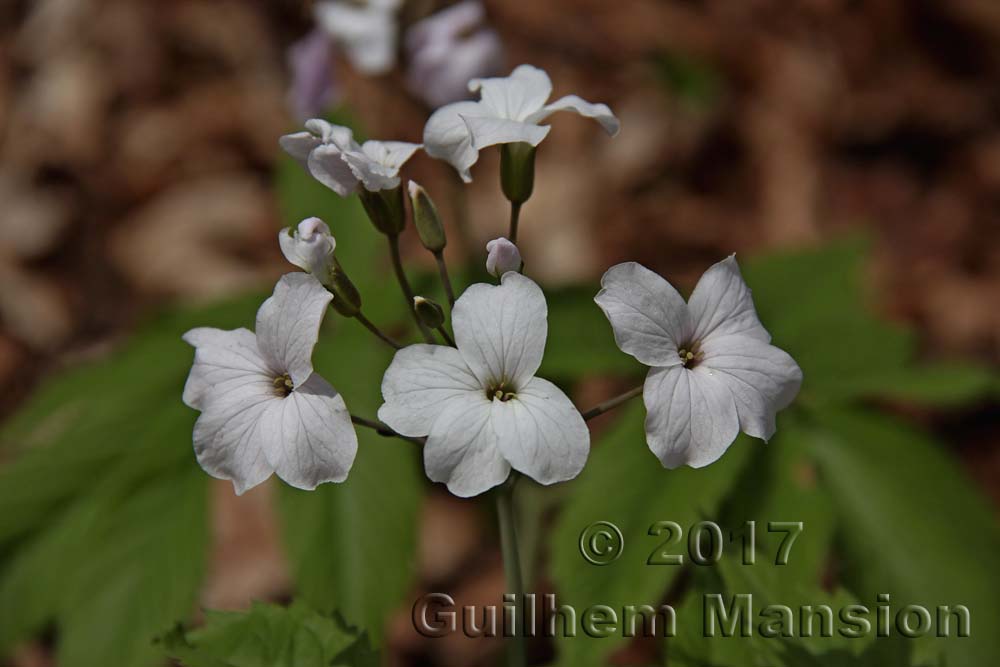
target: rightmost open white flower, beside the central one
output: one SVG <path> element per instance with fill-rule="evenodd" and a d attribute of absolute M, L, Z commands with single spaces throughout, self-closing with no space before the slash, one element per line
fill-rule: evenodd
<path fill-rule="evenodd" d="M 802 371 L 770 345 L 734 256 L 712 266 L 687 303 L 634 262 L 604 274 L 594 300 L 624 352 L 652 368 L 643 387 L 646 441 L 667 468 L 717 460 L 740 430 L 767 440 Z"/>

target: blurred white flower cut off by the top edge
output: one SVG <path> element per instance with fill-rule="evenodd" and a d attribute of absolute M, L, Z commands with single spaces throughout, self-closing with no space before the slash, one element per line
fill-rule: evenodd
<path fill-rule="evenodd" d="M 396 64 L 399 27 L 396 12 L 402 0 L 349 0 L 316 3 L 316 22 L 344 49 L 362 74 L 384 74 Z"/>

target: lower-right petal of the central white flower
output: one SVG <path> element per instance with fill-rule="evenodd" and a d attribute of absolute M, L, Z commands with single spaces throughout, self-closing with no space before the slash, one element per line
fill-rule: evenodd
<path fill-rule="evenodd" d="M 583 416 L 559 387 L 532 378 L 509 401 L 493 400 L 493 430 L 504 458 L 540 484 L 573 479 L 590 453 Z"/>

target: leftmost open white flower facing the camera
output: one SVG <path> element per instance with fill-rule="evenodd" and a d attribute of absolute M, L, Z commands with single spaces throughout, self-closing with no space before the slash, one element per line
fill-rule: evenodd
<path fill-rule="evenodd" d="M 247 329 L 192 329 L 195 348 L 184 403 L 201 411 L 194 450 L 208 474 L 242 494 L 277 473 L 314 489 L 347 477 L 358 439 L 344 399 L 312 368 L 312 350 L 331 295 L 315 278 L 290 273 Z"/>

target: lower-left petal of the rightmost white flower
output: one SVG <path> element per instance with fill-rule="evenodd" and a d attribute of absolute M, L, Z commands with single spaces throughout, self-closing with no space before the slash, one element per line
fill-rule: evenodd
<path fill-rule="evenodd" d="M 706 466 L 740 431 L 732 393 L 703 366 L 650 369 L 642 398 L 646 442 L 666 468 Z"/>

